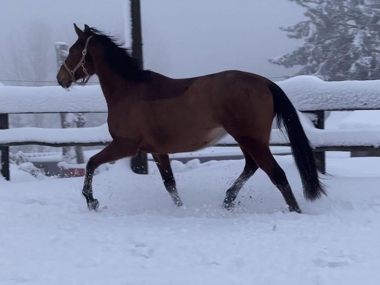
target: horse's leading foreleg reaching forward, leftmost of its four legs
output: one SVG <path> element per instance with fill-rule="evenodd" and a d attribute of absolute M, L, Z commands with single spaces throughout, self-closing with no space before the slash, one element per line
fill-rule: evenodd
<path fill-rule="evenodd" d="M 137 148 L 138 144 L 135 142 L 125 139 L 114 139 L 109 145 L 88 160 L 82 194 L 84 198 L 86 198 L 87 207 L 89 210 L 96 211 L 99 208 L 99 201 L 94 199 L 92 195 L 92 177 L 94 176 L 95 169 L 103 163 L 132 156 L 137 152 Z"/>

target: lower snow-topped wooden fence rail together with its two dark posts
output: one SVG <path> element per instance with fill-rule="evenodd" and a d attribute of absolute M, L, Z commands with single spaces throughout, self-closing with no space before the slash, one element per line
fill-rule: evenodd
<path fill-rule="evenodd" d="M 314 118 L 314 125 L 317 129 L 305 128 L 306 133 L 311 140 L 317 168 L 320 172 L 325 173 L 325 151 L 368 151 L 379 149 L 380 130 L 323 130 L 324 112 L 317 110 L 308 111 L 307 114 Z M 108 134 L 107 126 L 81 129 L 45 129 L 45 128 L 8 128 L 8 114 L 0 114 L 0 149 L 1 149 L 1 174 L 9 180 L 9 146 L 12 145 L 47 145 L 55 147 L 63 146 L 97 146 L 106 145 L 111 142 L 112 138 Z M 319 131 L 319 132 L 318 132 Z M 370 138 L 367 141 L 355 142 L 351 138 L 361 136 Z M 329 137 L 324 142 L 318 142 L 318 138 Z M 289 146 L 289 143 L 281 133 L 272 130 L 271 146 Z M 238 146 L 231 138 L 222 139 L 216 146 Z"/>

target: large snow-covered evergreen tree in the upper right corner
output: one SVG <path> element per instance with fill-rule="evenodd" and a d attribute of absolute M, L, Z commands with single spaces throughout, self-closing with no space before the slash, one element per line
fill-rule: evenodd
<path fill-rule="evenodd" d="M 280 29 L 305 44 L 269 62 L 329 81 L 380 78 L 380 0 L 290 1 L 308 20 Z"/>

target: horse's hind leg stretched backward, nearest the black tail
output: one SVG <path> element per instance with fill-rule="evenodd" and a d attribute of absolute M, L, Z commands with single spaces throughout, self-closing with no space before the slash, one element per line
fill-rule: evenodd
<path fill-rule="evenodd" d="M 263 143 L 260 140 L 250 137 L 238 138 L 236 141 L 249 151 L 257 166 L 269 176 L 272 183 L 278 188 L 278 190 L 280 190 L 286 204 L 289 207 L 289 211 L 302 213 L 296 199 L 294 198 L 285 172 L 274 159 L 272 153 L 270 152 L 268 143 Z"/>

